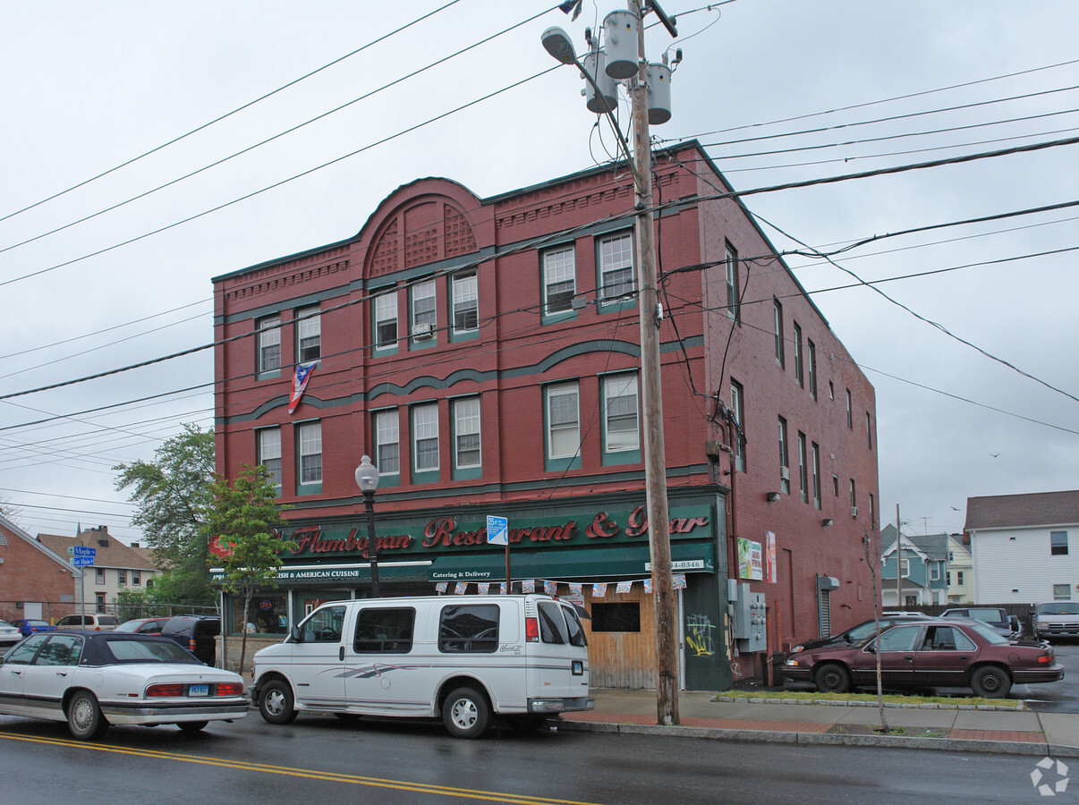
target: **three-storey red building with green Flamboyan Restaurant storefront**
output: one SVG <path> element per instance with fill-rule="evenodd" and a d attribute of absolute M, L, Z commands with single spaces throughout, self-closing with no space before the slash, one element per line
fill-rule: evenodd
<path fill-rule="evenodd" d="M 681 679 L 714 690 L 871 612 L 875 400 L 699 146 L 655 163 Z M 258 631 L 370 595 L 366 453 L 382 595 L 504 581 L 503 516 L 515 587 L 591 613 L 592 683 L 655 684 L 632 203 L 609 167 L 490 199 L 420 179 L 354 237 L 215 278 L 218 470 L 267 465 L 301 544 Z"/>

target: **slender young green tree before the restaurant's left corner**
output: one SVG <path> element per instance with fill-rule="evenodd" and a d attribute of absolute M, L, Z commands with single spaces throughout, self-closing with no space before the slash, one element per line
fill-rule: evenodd
<path fill-rule="evenodd" d="M 203 535 L 207 544 L 215 541 L 215 552 L 224 571 L 222 587 L 244 599 L 241 620 L 244 637 L 240 649 L 243 673 L 251 598 L 260 589 L 277 586 L 277 569 L 282 565 L 279 554 L 296 547 L 279 535 L 279 530 L 288 524 L 281 509 L 291 506 L 275 502 L 277 489 L 261 464 L 256 467 L 244 464 L 232 483 L 224 476 L 216 476 L 211 492 Z"/>

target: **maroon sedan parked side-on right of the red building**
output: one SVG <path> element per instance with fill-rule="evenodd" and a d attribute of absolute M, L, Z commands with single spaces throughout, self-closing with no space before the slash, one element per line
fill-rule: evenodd
<path fill-rule="evenodd" d="M 823 693 L 887 687 L 971 687 L 978 696 L 1000 698 L 1014 683 L 1056 682 L 1064 667 L 1048 643 L 1009 641 L 985 624 L 967 618 L 927 618 L 892 626 L 857 645 L 798 652 L 783 665 L 792 682 L 812 682 Z"/>

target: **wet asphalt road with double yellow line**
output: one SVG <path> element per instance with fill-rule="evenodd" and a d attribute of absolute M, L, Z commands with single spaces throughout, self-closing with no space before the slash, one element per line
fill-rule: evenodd
<path fill-rule="evenodd" d="M 301 715 L 274 726 L 254 711 L 197 735 L 113 727 L 85 743 L 62 724 L 0 717 L 5 805 L 1011 804 L 1039 801 L 1038 760 L 565 729 L 467 741 L 433 724 Z"/>

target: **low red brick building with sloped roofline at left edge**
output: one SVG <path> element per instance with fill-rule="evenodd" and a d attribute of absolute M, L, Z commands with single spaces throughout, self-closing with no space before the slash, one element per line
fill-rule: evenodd
<path fill-rule="evenodd" d="M 66 557 L 50 550 L 0 516 L 0 618 L 51 620 L 74 611 Z"/>

